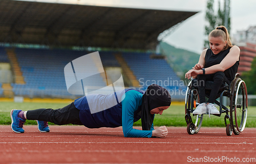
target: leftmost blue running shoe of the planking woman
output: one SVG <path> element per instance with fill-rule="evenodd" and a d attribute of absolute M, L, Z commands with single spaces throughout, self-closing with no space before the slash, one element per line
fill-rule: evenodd
<path fill-rule="evenodd" d="M 23 120 L 22 118 L 18 118 L 18 113 L 22 110 L 12 109 L 11 111 L 11 119 L 12 119 L 12 130 L 15 133 L 24 133 L 23 125 L 26 122 L 26 120 Z"/>

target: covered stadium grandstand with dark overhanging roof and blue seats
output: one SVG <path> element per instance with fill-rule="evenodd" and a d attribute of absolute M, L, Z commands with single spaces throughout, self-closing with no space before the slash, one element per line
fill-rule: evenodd
<path fill-rule="evenodd" d="M 2 15 L 7 15 L 6 18 L 0 19 L 0 26 L 3 26 L 0 28 L 0 33 L 3 34 L 0 37 L 0 46 L 12 49 L 10 52 L 8 50 L 8 56 L 12 67 L 15 68 L 12 69 L 14 78 L 9 81 L 15 81 L 11 84 L 14 95 L 29 97 L 70 96 L 67 92 L 63 68 L 72 60 L 89 53 L 68 50 L 71 47 L 76 50 L 84 47 L 87 50 L 118 50 L 118 52 L 102 51 L 100 56 L 103 66 L 119 67 L 108 68 L 109 72 L 113 70 L 126 71 L 125 77 L 123 77 L 127 86 L 137 87 L 139 82 L 136 81 L 136 78 L 137 80 L 144 79 L 145 82 L 150 80 L 152 83 L 154 80 L 170 82 L 177 79 L 179 81 L 164 60 L 149 60 L 150 54 L 130 53 L 132 56 L 146 54 L 145 60 L 148 59 L 144 65 L 141 62 L 131 64 L 127 61 L 130 63 L 132 71 L 125 62 L 125 64 L 122 63 L 124 59 L 118 56 L 130 50 L 146 52 L 156 49 L 159 38 L 162 40 L 168 34 L 165 30 L 177 26 L 188 17 L 198 13 L 195 11 L 33 1 L 0 1 L 0 4 L 1 11 L 4 13 Z M 93 16 L 88 17 L 91 13 Z M 18 33 L 17 30 L 13 30 L 16 27 L 20 27 Z M 49 49 L 58 46 L 66 49 Z M 12 51 L 15 48 L 14 53 Z M 4 49 L 1 48 L 0 53 Z M 16 58 L 19 64 L 16 62 Z M 12 61 L 13 59 L 15 63 Z M 0 61 L 7 60 L 8 58 L 0 56 Z M 121 66 L 119 63 L 122 63 Z M 161 66 L 161 69 L 154 65 L 156 63 L 159 64 L 159 67 Z M 145 73 L 145 69 L 151 71 Z M 166 75 L 172 79 L 166 78 Z M 97 82 L 105 82 L 100 80 L 100 76 L 98 78 Z M 158 82 L 156 81 L 156 83 Z M 8 84 L 10 83 L 8 82 Z M 182 88 L 178 84 L 167 84 L 166 86 L 179 90 Z M 6 87 L 5 90 L 8 88 L 10 87 Z M 13 97 L 12 93 L 11 97 Z"/>

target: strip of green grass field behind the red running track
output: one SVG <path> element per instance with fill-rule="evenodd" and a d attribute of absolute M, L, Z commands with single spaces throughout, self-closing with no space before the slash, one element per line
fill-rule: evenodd
<path fill-rule="evenodd" d="M 10 125 L 10 111 L 12 109 L 32 110 L 38 108 L 53 108 L 58 109 L 68 105 L 69 103 L 14 103 L 14 102 L 0 102 L 0 125 Z M 171 105 L 162 115 L 156 114 L 154 120 L 154 126 L 186 126 L 184 119 L 185 109 L 184 105 Z M 224 122 L 225 114 L 221 117 L 211 115 L 209 119 L 208 115 L 204 115 L 202 127 L 225 127 Z M 246 127 L 256 127 L 256 107 L 248 107 L 248 116 Z M 27 120 L 25 125 L 36 125 L 36 121 Z M 49 125 L 53 125 L 49 123 Z M 135 126 L 141 126 L 141 121 L 134 123 Z"/>

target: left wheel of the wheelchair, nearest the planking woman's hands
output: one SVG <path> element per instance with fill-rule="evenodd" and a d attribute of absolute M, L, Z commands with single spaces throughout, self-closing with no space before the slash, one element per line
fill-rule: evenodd
<path fill-rule="evenodd" d="M 195 129 L 194 129 L 195 132 L 191 134 L 198 133 L 203 122 L 203 114 L 195 115 L 192 113 L 196 109 L 198 104 L 199 104 L 198 90 L 197 89 L 192 90 L 191 82 L 190 82 L 186 91 L 185 112 L 188 113 L 189 112 L 188 109 L 190 109 L 189 114 L 191 116 L 191 120 L 193 124 L 195 125 Z M 187 128 L 187 132 L 188 132 L 188 128 Z M 188 132 L 188 134 L 190 133 Z"/>

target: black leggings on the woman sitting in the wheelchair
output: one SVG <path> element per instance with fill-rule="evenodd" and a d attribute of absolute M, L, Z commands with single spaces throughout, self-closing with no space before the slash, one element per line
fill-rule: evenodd
<path fill-rule="evenodd" d="M 223 72 L 217 72 L 215 74 L 210 74 L 210 75 L 198 75 L 197 79 L 199 81 L 198 91 L 199 91 L 200 103 L 206 103 L 205 86 L 204 86 L 205 81 L 214 81 L 214 84 L 212 84 L 212 89 L 210 91 L 210 96 L 208 99 L 208 103 L 212 103 L 212 104 L 215 102 L 215 99 L 218 95 L 218 92 L 223 82 L 229 83 L 227 77 Z"/>

